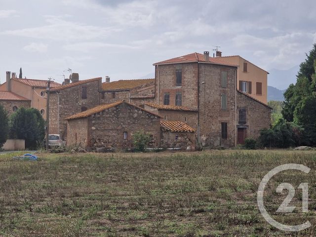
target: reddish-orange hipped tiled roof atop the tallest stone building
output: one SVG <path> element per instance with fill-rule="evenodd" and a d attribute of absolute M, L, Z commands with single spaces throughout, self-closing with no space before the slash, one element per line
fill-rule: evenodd
<path fill-rule="evenodd" d="M 213 58 L 209 57 L 209 59 L 206 61 L 204 58 L 204 54 L 200 53 L 191 53 L 187 54 L 181 57 L 177 58 L 171 58 L 165 61 L 161 61 L 158 63 L 155 63 L 154 65 L 159 64 L 172 64 L 172 63 L 194 63 L 194 62 L 205 62 L 205 63 L 212 63 L 212 64 L 219 64 L 219 65 L 225 65 L 225 66 L 232 66 L 232 67 L 238 67 L 238 65 L 231 64 L 229 62 L 226 62 L 225 60 L 222 60 L 220 57 Z"/>

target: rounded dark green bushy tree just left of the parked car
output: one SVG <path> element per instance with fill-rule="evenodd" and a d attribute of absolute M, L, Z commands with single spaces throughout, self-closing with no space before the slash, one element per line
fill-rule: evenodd
<path fill-rule="evenodd" d="M 10 136 L 24 139 L 25 147 L 36 149 L 44 139 L 44 120 L 37 109 L 20 108 L 11 115 Z"/>

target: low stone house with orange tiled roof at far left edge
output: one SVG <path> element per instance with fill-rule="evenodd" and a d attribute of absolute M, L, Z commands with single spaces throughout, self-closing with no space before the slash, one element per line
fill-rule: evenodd
<path fill-rule="evenodd" d="M 0 105 L 10 116 L 21 107 L 30 108 L 31 100 L 10 91 L 0 91 Z"/>

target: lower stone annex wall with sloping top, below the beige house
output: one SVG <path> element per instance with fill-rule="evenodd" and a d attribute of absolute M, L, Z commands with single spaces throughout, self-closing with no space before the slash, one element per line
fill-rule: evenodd
<path fill-rule="evenodd" d="M 242 124 L 246 127 L 246 137 L 257 138 L 261 129 L 270 127 L 271 109 L 237 91 L 237 127 L 240 126 L 238 121 L 240 109 L 246 110 L 246 124 Z"/>

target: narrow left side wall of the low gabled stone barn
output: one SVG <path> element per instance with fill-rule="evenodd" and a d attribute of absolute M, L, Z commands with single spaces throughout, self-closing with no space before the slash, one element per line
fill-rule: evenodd
<path fill-rule="evenodd" d="M 78 118 L 67 122 L 67 145 L 88 145 L 88 118 Z"/>

